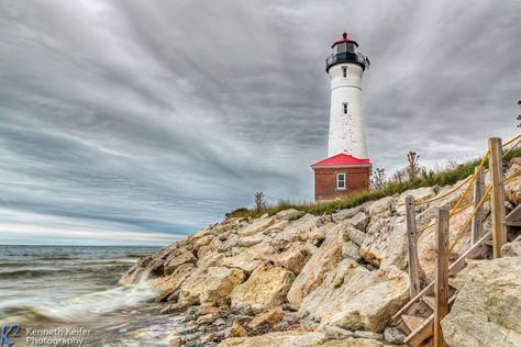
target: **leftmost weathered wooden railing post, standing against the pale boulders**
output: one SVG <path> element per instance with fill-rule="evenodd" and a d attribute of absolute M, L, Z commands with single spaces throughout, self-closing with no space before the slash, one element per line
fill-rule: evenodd
<path fill-rule="evenodd" d="M 420 291 L 420 264 L 418 261 L 417 219 L 414 197 L 406 197 L 407 240 L 409 246 L 409 279 L 411 280 L 410 295 L 414 298 Z"/>

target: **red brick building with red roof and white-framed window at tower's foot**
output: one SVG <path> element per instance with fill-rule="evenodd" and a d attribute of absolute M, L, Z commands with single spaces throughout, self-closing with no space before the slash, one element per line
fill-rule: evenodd
<path fill-rule="evenodd" d="M 369 189 L 369 159 L 339 154 L 311 165 L 314 171 L 314 200 L 335 200 Z"/>

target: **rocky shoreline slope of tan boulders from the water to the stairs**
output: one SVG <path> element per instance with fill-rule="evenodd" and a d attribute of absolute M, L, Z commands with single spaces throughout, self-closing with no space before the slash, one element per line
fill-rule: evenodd
<path fill-rule="evenodd" d="M 226 219 L 142 258 L 121 284 L 148 281 L 160 291 L 160 313 L 184 317 L 170 346 L 401 345 L 404 334 L 389 321 L 409 300 L 404 199 L 441 197 L 453 187 L 411 190 L 332 215 L 286 210 Z M 520 189 L 521 178 L 507 186 L 509 209 L 521 202 Z M 418 228 L 457 195 L 419 206 Z M 489 211 L 485 205 L 486 231 Z M 451 238 L 470 213 L 451 220 Z M 454 257 L 468 245 L 467 234 Z M 433 228 L 420 237 L 419 257 L 429 282 Z"/>

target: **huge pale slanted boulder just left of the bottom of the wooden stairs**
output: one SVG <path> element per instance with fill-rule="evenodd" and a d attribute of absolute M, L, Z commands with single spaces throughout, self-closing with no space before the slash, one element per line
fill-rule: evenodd
<path fill-rule="evenodd" d="M 300 305 L 300 313 L 320 326 L 380 333 L 390 317 L 409 300 L 409 276 L 389 267 L 369 271 L 344 259 Z"/>

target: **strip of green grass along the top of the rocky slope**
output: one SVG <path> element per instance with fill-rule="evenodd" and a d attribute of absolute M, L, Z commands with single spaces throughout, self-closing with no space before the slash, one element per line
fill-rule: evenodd
<path fill-rule="evenodd" d="M 506 160 L 510 160 L 516 157 L 521 157 L 521 148 L 516 148 L 509 153 L 506 157 Z M 361 193 L 355 193 L 342 200 L 329 201 L 329 202 L 318 202 L 318 203 L 293 203 L 289 201 L 280 201 L 277 204 L 268 205 L 265 209 L 237 209 L 233 212 L 226 213 L 226 217 L 259 217 L 260 215 L 267 213 L 268 215 L 274 215 L 279 211 L 296 209 L 302 211 L 303 213 L 311 213 L 314 215 L 321 214 L 331 214 L 343 209 L 350 209 L 358 206 L 367 201 L 378 200 L 385 197 L 391 197 L 393 194 L 402 193 L 410 189 L 418 189 L 422 187 L 432 187 L 432 186 L 448 186 L 454 184 L 457 181 L 467 178 L 474 174 L 474 169 L 479 165 L 481 159 L 475 159 L 459 165 L 454 169 L 447 169 L 440 172 L 428 171 L 422 175 L 420 179 L 406 182 L 388 182 L 381 189 L 374 191 L 365 191 Z M 485 163 L 485 166 L 488 167 L 488 160 Z"/>

